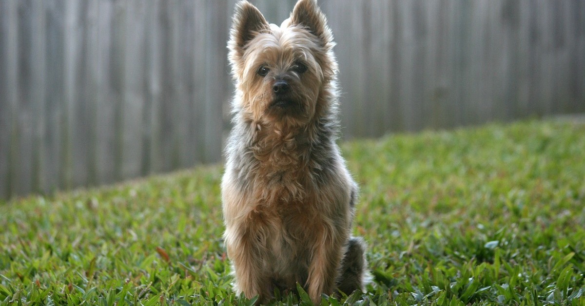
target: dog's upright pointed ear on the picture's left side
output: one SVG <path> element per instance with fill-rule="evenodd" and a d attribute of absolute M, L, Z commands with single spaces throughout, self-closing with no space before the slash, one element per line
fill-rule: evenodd
<path fill-rule="evenodd" d="M 256 6 L 245 0 L 238 2 L 232 19 L 229 49 L 234 56 L 241 59 L 246 49 L 246 44 L 262 30 L 266 29 L 270 29 L 270 25 Z"/>

